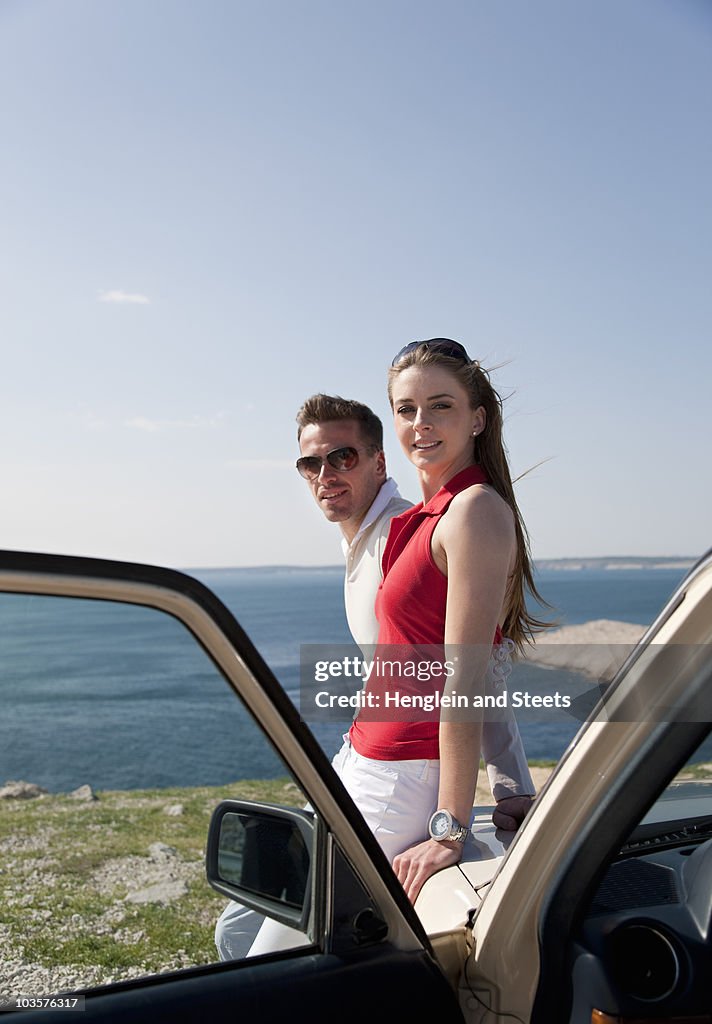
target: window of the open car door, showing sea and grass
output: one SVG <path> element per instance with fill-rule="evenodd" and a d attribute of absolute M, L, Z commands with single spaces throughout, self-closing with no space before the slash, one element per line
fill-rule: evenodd
<path fill-rule="evenodd" d="M 217 961 L 215 806 L 304 798 L 192 634 L 138 605 L 2 594 L 0 700 L 0 992 Z"/>

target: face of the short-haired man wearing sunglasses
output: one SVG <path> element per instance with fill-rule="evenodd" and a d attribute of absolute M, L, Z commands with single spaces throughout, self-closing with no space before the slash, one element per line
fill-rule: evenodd
<path fill-rule="evenodd" d="M 364 451 L 367 444 L 355 420 L 311 423 L 299 438 L 302 456 L 325 460 L 319 476 L 305 482 L 329 522 L 338 522 L 347 541 L 358 532 L 385 480 L 385 456 L 373 449 Z M 347 446 L 359 450 L 359 463 L 348 472 L 340 472 L 326 462 L 326 456 L 334 449 Z"/>

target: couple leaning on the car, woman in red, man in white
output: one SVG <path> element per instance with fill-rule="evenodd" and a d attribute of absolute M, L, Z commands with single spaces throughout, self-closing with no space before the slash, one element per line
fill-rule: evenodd
<path fill-rule="evenodd" d="M 357 401 L 319 394 L 304 402 L 297 469 L 327 519 L 341 527 L 346 617 L 357 643 L 457 650 L 444 692 L 477 694 L 541 625 L 525 604 L 525 589 L 537 591 L 502 439 L 502 403 L 479 364 L 446 338 L 412 342 L 396 354 L 388 399 L 418 472 L 420 504 L 411 506 L 386 475 L 381 422 Z M 361 712 L 334 758 L 413 902 L 427 878 L 462 856 L 480 751 L 496 801 L 493 821 L 515 829 L 535 791 L 510 711 L 484 725 L 445 715 L 439 723 L 374 721 Z M 215 937 L 222 959 L 244 955 L 250 914 L 229 904 L 221 915 Z M 251 955 L 277 947 L 274 927 L 263 926 Z"/>

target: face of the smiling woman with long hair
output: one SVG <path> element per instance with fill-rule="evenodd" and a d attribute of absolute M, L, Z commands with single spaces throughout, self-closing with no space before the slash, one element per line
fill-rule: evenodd
<path fill-rule="evenodd" d="M 448 479 L 474 462 L 473 432 L 485 410 L 443 367 L 409 367 L 392 386 L 393 421 L 401 446 L 417 469 L 447 470 Z"/>

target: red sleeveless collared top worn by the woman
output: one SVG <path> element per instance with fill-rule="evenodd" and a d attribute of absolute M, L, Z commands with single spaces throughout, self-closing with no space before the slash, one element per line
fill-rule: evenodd
<path fill-rule="evenodd" d="M 448 675 L 444 649 L 448 578 L 435 564 L 430 542 L 455 495 L 488 482 L 481 467 L 468 466 L 427 504 L 414 505 L 390 521 L 376 596 L 378 647 L 366 686 L 371 703 L 360 711 L 349 730 L 354 750 L 364 757 L 439 758 L 437 697 Z M 501 639 L 498 627 L 494 642 Z"/>

